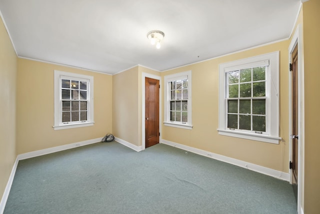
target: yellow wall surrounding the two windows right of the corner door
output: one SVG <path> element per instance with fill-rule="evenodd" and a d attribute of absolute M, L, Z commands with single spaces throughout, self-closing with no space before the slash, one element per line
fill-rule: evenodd
<path fill-rule="evenodd" d="M 192 130 L 162 125 L 162 139 L 288 172 L 288 45 L 289 41 L 278 42 L 161 73 L 164 77 L 172 73 L 192 71 L 193 125 Z M 274 51 L 280 51 L 279 133 L 282 141 L 271 144 L 218 135 L 219 64 Z"/>

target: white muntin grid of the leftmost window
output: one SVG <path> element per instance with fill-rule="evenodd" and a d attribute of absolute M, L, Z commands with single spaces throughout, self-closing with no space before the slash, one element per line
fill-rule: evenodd
<path fill-rule="evenodd" d="M 65 83 L 66 81 L 69 82 L 69 87 L 63 87 L 63 83 Z M 73 85 L 74 83 L 74 85 Z M 85 89 L 81 89 L 81 83 L 85 83 Z M 61 77 L 60 78 L 60 108 L 61 108 L 61 114 L 60 114 L 60 123 L 61 124 L 73 124 L 73 123 L 83 123 L 83 122 L 87 122 L 88 119 L 88 107 L 89 107 L 89 81 L 87 80 L 75 80 L 73 78 L 65 78 L 65 77 Z M 62 91 L 63 90 L 69 90 L 69 99 L 62 99 Z M 81 99 L 80 96 L 80 92 L 85 92 L 86 93 L 86 99 Z M 72 92 L 77 92 L 77 97 L 78 99 L 72 99 L 72 95 L 76 94 L 76 93 L 72 93 Z M 74 97 L 74 96 L 73 96 Z M 69 105 L 69 111 L 65 111 L 63 110 L 63 101 L 66 102 L 70 102 Z M 78 102 L 78 110 L 72 110 L 72 103 L 73 102 Z M 86 110 L 81 110 L 81 102 L 86 102 Z M 82 108 L 83 109 L 83 108 Z M 66 115 L 66 113 L 69 112 L 69 121 L 63 121 L 63 114 Z M 78 112 L 78 114 L 74 115 L 74 113 Z M 72 116 L 72 113 L 74 116 Z M 81 117 L 81 113 L 82 113 L 82 117 Z M 84 115 L 85 113 L 85 115 Z M 77 118 L 77 120 L 73 120 L 72 118 Z M 85 117 L 86 119 L 84 120 Z M 83 118 L 83 120 L 81 120 Z"/>

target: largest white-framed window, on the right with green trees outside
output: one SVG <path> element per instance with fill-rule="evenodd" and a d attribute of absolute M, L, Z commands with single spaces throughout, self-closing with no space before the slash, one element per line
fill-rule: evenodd
<path fill-rule="evenodd" d="M 222 135 L 278 143 L 278 52 L 219 66 Z"/>

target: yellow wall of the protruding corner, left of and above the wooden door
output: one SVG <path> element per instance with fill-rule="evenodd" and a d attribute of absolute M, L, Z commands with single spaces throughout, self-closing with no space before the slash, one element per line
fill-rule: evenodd
<path fill-rule="evenodd" d="M 112 76 L 112 128 L 114 136 L 141 146 L 142 73 L 160 76 L 159 72 L 135 66 Z"/>

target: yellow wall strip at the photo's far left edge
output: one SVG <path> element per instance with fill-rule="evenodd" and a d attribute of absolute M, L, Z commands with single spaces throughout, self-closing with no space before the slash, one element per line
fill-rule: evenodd
<path fill-rule="evenodd" d="M 16 54 L 0 18 L 0 198 L 16 158 L 16 61 Z"/>

